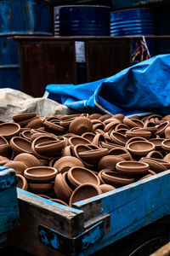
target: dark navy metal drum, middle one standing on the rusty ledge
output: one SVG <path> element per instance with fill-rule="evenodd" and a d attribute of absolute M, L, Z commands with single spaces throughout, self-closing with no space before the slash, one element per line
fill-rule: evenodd
<path fill-rule="evenodd" d="M 54 35 L 110 36 L 110 8 L 88 5 L 55 7 Z"/>

